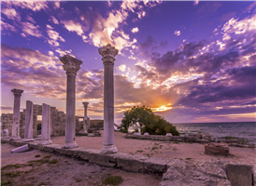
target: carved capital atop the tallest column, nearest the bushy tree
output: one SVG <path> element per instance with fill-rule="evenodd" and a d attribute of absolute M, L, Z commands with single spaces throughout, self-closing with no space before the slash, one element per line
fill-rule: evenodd
<path fill-rule="evenodd" d="M 99 48 L 99 53 L 102 56 L 103 63 L 111 62 L 114 64 L 115 57 L 118 55 L 119 50 L 114 46 L 107 44 L 107 46 L 103 46 Z"/>

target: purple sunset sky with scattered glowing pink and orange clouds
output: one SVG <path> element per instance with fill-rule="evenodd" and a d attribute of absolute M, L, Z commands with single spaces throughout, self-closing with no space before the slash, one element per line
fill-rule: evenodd
<path fill-rule="evenodd" d="M 115 123 L 145 105 L 172 123 L 255 121 L 256 14 L 251 1 L 1 1 L 1 112 L 12 88 L 65 112 L 60 57 L 82 60 L 76 114 L 103 118 L 98 47 L 119 49 Z"/>

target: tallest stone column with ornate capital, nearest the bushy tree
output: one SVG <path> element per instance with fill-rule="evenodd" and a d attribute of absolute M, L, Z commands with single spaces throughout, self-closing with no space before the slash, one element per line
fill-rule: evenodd
<path fill-rule="evenodd" d="M 104 135 L 101 153 L 117 153 L 114 142 L 114 61 L 119 50 L 114 46 L 99 48 L 104 64 Z"/>

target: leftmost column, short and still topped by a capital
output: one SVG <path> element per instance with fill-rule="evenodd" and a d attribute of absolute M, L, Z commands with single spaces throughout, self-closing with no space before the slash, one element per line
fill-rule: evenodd
<path fill-rule="evenodd" d="M 13 105 L 13 119 L 11 127 L 11 137 L 10 140 L 19 140 L 20 137 L 20 107 L 21 107 L 21 94 L 23 90 L 12 89 L 14 95 L 14 105 Z"/>

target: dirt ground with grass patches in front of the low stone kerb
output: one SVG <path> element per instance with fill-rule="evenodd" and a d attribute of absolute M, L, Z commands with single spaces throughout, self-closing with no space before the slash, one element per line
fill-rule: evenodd
<path fill-rule="evenodd" d="M 127 172 L 97 166 L 85 161 L 33 150 L 11 153 L 15 147 L 0 144 L 0 185 L 107 185 L 107 181 L 121 181 L 121 186 L 159 185 L 162 176 Z M 114 177 L 114 178 L 113 178 Z M 108 184 L 110 185 L 110 184 Z"/>

